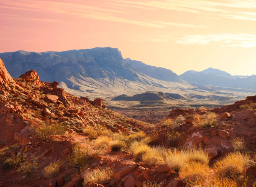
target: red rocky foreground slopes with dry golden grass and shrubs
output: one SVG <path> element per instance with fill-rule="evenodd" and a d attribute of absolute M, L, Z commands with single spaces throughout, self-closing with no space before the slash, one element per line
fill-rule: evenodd
<path fill-rule="evenodd" d="M 42 82 L 35 70 L 11 78 L 0 62 L 0 186 L 256 184 L 256 96 L 175 109 L 153 125 Z"/>

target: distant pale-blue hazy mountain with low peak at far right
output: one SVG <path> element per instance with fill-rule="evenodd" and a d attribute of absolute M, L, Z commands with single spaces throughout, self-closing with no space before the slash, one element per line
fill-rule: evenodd
<path fill-rule="evenodd" d="M 256 89 L 256 75 L 232 76 L 225 71 L 213 68 L 208 68 L 200 72 L 186 71 L 182 75 L 179 75 L 179 77 L 187 82 L 202 85 Z"/>

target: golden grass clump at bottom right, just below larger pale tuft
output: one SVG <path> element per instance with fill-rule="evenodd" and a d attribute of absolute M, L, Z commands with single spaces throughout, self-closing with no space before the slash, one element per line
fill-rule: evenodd
<path fill-rule="evenodd" d="M 201 162 L 192 162 L 182 167 L 179 175 L 184 182 L 197 181 L 203 184 L 209 175 L 209 171 L 208 165 Z"/>

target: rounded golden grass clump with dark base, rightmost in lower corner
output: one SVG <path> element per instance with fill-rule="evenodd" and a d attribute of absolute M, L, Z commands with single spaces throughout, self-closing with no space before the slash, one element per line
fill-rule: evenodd
<path fill-rule="evenodd" d="M 250 165 L 250 157 L 241 152 L 233 152 L 214 164 L 219 176 L 237 179 L 243 176 L 246 167 Z"/>

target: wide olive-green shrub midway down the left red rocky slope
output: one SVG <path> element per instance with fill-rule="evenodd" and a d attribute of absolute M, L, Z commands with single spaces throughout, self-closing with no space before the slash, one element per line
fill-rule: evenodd
<path fill-rule="evenodd" d="M 49 140 L 52 135 L 61 135 L 66 131 L 66 127 L 62 123 L 50 124 L 43 122 L 41 127 L 31 127 L 35 135 L 42 141 Z"/>

